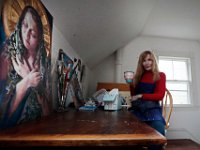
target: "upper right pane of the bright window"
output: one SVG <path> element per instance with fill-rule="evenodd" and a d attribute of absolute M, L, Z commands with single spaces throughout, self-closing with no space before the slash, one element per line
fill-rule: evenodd
<path fill-rule="evenodd" d="M 174 65 L 174 79 L 175 80 L 188 80 L 187 64 L 185 61 L 173 61 Z"/>

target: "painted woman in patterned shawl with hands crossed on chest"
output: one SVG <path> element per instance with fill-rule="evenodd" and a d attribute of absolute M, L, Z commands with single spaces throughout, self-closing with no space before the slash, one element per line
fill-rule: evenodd
<path fill-rule="evenodd" d="M 1 51 L 0 127 L 47 115 L 50 61 L 42 22 L 33 7 L 23 9 L 15 31 Z"/>

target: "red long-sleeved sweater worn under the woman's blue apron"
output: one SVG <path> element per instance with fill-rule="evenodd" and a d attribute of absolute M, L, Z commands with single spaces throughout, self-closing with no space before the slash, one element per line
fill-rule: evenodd
<path fill-rule="evenodd" d="M 156 87 L 154 93 L 152 94 L 142 93 L 142 99 L 153 100 L 153 101 L 159 101 L 163 99 L 166 90 L 166 76 L 163 72 L 160 72 L 159 74 L 160 74 L 160 79 L 155 82 Z M 145 72 L 140 82 L 154 84 L 153 73 L 150 71 Z M 134 88 L 132 86 L 130 88 L 131 88 L 131 95 L 132 96 L 135 95 Z"/>

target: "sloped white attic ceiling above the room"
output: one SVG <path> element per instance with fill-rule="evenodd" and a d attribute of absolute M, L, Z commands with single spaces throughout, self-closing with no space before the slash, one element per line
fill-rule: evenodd
<path fill-rule="evenodd" d="M 200 41 L 200 0 L 42 0 L 92 69 L 137 36 Z"/>

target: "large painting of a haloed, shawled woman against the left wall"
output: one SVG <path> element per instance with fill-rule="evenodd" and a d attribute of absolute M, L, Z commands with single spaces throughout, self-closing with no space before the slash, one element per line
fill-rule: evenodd
<path fill-rule="evenodd" d="M 52 16 L 39 0 L 4 0 L 1 16 L 0 128 L 6 128 L 51 111 Z"/>

